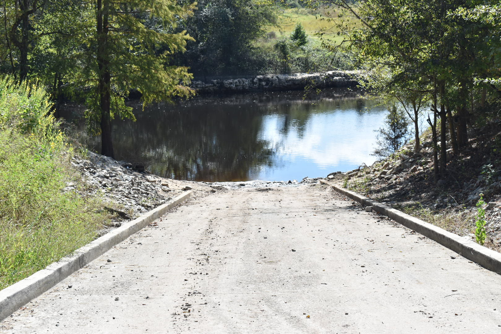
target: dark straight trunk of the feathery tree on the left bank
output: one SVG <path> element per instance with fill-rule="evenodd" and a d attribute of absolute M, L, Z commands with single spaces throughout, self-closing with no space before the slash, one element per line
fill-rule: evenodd
<path fill-rule="evenodd" d="M 99 68 L 98 94 L 101 110 L 101 154 L 113 157 L 113 141 L 111 138 L 111 74 L 107 55 L 108 43 L 108 0 L 97 0 L 97 63 Z"/>

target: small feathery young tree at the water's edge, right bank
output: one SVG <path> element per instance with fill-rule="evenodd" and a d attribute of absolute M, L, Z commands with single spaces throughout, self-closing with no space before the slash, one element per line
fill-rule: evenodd
<path fill-rule="evenodd" d="M 407 142 L 409 132 L 409 123 L 405 119 L 402 110 L 399 110 L 395 105 L 388 109 L 388 115 L 384 121 L 384 127 L 377 132 L 376 144 L 378 147 L 374 150 L 373 155 L 378 157 L 386 157 Z"/>

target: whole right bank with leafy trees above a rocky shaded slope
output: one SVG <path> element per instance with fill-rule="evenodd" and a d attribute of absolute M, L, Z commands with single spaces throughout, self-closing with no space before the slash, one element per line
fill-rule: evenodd
<path fill-rule="evenodd" d="M 331 178 L 498 248 L 499 5 L 330 5 L 340 12 L 326 20 L 338 27 L 342 41 L 326 37 L 325 43 L 349 52 L 353 64 L 369 74 L 361 85 L 389 106 L 374 152 L 383 159 Z M 405 145 L 409 125 L 413 140 Z"/>

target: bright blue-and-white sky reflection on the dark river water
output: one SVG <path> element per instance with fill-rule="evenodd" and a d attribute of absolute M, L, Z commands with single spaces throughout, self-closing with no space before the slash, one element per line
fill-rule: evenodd
<path fill-rule="evenodd" d="M 354 109 L 326 107 L 322 113 L 310 116 L 301 136 L 294 125 L 283 129 L 285 116 L 265 115 L 259 139 L 275 149 L 282 163 L 257 168 L 252 178 L 301 179 L 372 164 L 376 160 L 370 155 L 374 150 L 373 130 L 382 125 L 384 110 L 357 113 Z"/>

